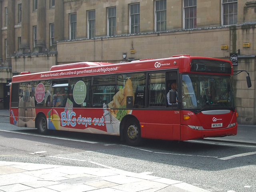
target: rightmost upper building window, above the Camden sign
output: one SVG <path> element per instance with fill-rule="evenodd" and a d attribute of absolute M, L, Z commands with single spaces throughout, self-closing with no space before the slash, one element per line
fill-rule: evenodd
<path fill-rule="evenodd" d="M 222 0 L 223 25 L 237 23 L 237 0 Z"/>

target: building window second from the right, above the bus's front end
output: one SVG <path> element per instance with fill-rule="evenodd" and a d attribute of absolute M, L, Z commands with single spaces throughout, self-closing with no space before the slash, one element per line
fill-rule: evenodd
<path fill-rule="evenodd" d="M 184 28 L 196 28 L 196 0 L 184 0 Z"/>

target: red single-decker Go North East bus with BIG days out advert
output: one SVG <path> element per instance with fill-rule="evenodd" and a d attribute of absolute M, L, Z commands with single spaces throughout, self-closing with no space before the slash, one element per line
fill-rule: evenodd
<path fill-rule="evenodd" d="M 133 146 L 236 135 L 232 75 L 230 61 L 190 55 L 23 72 L 12 78 L 10 123 L 119 135 Z"/>

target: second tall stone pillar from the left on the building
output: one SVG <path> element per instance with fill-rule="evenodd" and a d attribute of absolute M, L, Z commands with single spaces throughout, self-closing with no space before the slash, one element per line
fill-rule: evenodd
<path fill-rule="evenodd" d="M 22 0 L 21 4 L 21 46 L 19 53 L 28 53 L 29 47 L 29 0 Z"/>

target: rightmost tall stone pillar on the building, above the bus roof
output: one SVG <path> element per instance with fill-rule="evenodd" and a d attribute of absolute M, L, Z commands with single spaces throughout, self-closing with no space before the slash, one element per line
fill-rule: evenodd
<path fill-rule="evenodd" d="M 54 45 L 57 41 L 62 41 L 64 38 L 64 2 L 63 0 L 55 0 L 54 10 Z"/>

